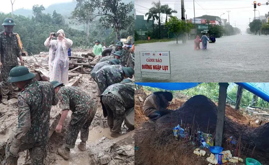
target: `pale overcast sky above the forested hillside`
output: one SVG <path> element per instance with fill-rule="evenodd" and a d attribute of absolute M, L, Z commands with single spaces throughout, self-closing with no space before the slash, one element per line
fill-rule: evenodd
<path fill-rule="evenodd" d="M 0 0 L 1 5 L 0 5 L 0 12 L 3 13 L 10 13 L 12 11 L 11 9 L 11 2 L 10 0 Z M 14 0 L 12 0 L 14 1 Z M 13 10 L 16 9 L 32 9 L 33 5 L 39 4 L 42 5 L 46 8 L 51 4 L 54 3 L 62 3 L 62 2 L 70 2 L 72 0 L 15 0 L 14 5 L 13 5 Z"/>

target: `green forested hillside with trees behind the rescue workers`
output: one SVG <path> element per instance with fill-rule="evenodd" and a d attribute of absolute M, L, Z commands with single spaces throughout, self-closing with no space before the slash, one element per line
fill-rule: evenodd
<path fill-rule="evenodd" d="M 56 10 L 52 14 L 45 13 L 43 5 L 34 5 L 32 17 L 16 15 L 16 11 L 14 15 L 0 13 L 0 22 L 5 18 L 14 19 L 16 23 L 14 33 L 20 35 L 23 47 L 29 55 L 47 51 L 44 46 L 45 39 L 50 33 L 56 33 L 59 29 L 63 29 L 66 37 L 73 41 L 72 48 L 90 49 L 96 39 L 109 46 L 112 41 L 127 38 L 134 33 L 134 23 L 131 23 L 134 22 L 133 2 L 112 1 L 113 5 L 111 0 L 92 0 L 91 3 L 87 0 L 77 0 L 76 7 L 73 11 L 69 11 L 69 16 L 63 16 Z M 118 26 L 119 24 L 124 26 Z M 78 28 L 75 29 L 75 26 L 82 27 L 80 28 L 82 30 L 76 30 Z M 1 26 L 0 31 L 3 30 L 4 27 Z"/>

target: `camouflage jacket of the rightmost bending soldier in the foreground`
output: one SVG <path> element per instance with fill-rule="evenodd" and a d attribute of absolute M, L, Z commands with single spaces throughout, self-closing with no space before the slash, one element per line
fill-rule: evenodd
<path fill-rule="evenodd" d="M 110 96 L 120 101 L 125 109 L 134 107 L 134 83 L 120 82 L 113 84 L 102 93 L 102 96 L 109 93 L 112 93 Z"/>

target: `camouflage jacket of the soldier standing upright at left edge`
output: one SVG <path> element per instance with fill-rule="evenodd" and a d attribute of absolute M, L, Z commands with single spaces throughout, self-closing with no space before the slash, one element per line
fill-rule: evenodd
<path fill-rule="evenodd" d="M 18 57 L 22 55 L 18 38 L 12 33 L 11 36 L 7 35 L 5 31 L 0 33 L 0 55 L 1 63 L 3 66 L 17 66 Z"/>

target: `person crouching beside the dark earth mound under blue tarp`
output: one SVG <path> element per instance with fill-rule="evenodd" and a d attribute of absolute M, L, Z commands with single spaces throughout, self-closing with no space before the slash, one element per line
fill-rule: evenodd
<path fill-rule="evenodd" d="M 172 99 L 173 94 L 171 92 L 154 92 L 146 98 L 143 112 L 150 118 L 150 123 L 173 111 L 167 109 Z"/>

